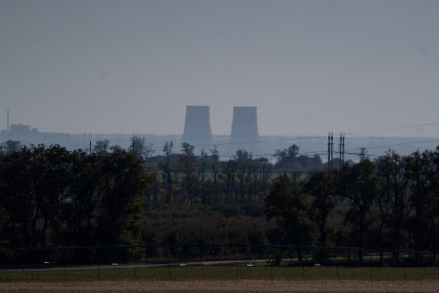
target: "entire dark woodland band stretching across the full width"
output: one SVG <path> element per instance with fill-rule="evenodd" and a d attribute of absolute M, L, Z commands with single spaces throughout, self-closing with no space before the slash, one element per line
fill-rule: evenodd
<path fill-rule="evenodd" d="M 334 163 L 299 147 L 276 162 L 239 150 L 161 155 L 58 145 L 0 148 L 0 248 L 118 244 L 295 244 L 438 251 L 439 147 Z M 360 256 L 361 257 L 361 256 Z"/>

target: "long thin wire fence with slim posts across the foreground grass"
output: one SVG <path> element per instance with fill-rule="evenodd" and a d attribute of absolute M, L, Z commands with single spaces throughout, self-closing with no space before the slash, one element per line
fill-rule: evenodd
<path fill-rule="evenodd" d="M 437 252 L 249 244 L 0 249 L 2 281 L 439 279 Z"/>

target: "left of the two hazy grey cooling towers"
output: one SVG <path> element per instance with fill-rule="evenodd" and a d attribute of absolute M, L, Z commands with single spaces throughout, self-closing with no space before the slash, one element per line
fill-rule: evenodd
<path fill-rule="evenodd" d="M 212 144 L 209 106 L 186 106 L 185 129 L 182 142 L 191 145 Z"/>

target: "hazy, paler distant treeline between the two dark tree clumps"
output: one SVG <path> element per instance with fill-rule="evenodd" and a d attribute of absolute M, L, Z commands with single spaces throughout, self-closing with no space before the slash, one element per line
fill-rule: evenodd
<path fill-rule="evenodd" d="M 173 203 L 210 207 L 252 204 L 262 205 L 271 187 L 273 174 L 288 170 L 301 173 L 325 168 L 319 156 L 298 155 L 299 147 L 277 150 L 276 163 L 254 157 L 239 149 L 235 156 L 224 157 L 216 147 L 209 152 L 194 153 L 194 146 L 183 143 L 174 152 L 173 143 L 165 143 L 163 155 L 145 157 L 145 166 L 157 174 L 158 181 L 150 194 L 152 208 Z M 291 151 L 291 149 L 294 151 Z"/>

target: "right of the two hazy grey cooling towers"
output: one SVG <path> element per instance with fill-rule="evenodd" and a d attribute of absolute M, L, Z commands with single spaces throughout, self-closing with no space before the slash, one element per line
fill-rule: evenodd
<path fill-rule="evenodd" d="M 244 142 L 259 141 L 256 107 L 233 107 L 232 132 L 230 143 L 245 148 Z"/>

